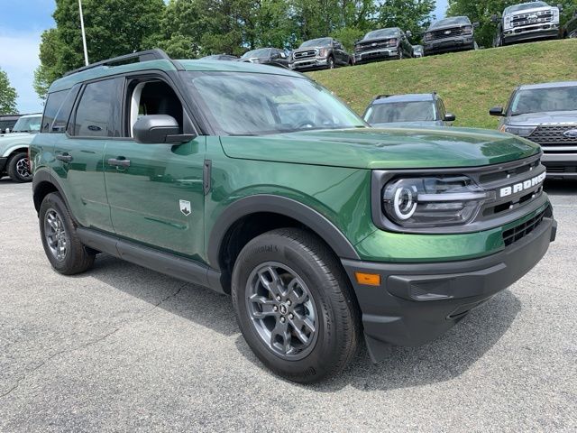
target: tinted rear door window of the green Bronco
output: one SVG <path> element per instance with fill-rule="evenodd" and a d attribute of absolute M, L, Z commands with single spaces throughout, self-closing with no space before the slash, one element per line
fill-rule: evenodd
<path fill-rule="evenodd" d="M 118 92 L 117 82 L 105 79 L 88 83 L 80 102 L 74 121 L 74 135 L 81 137 L 113 137 L 116 117 L 119 116 L 119 103 L 116 98 L 122 95 Z"/>

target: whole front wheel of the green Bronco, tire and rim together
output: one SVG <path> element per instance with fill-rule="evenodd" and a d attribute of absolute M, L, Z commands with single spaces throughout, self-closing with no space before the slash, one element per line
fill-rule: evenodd
<path fill-rule="evenodd" d="M 350 281 L 334 253 L 305 230 L 272 230 L 246 244 L 234 264 L 232 298 L 247 344 L 290 381 L 334 376 L 356 352 L 359 309 Z"/>

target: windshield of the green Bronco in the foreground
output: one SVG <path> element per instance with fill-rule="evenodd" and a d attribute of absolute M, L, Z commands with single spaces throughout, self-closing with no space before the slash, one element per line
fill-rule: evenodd
<path fill-rule="evenodd" d="M 236 72 L 187 72 L 188 87 L 221 134 L 260 135 L 366 126 L 307 78 Z"/>

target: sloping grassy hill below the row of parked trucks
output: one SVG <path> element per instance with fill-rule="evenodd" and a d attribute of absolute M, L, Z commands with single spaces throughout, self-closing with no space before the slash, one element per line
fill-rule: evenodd
<path fill-rule="evenodd" d="M 310 76 L 360 115 L 375 95 L 436 91 L 457 116 L 455 125 L 496 128 L 489 108 L 506 106 L 518 84 L 577 80 L 577 40 L 381 61 Z"/>

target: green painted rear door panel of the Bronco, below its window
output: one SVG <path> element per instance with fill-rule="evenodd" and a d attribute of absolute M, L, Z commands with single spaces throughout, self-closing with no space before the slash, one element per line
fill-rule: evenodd
<path fill-rule="evenodd" d="M 103 170 L 106 140 L 54 135 L 59 140 L 54 147 L 53 174 L 60 180 L 72 215 L 81 226 L 112 232 Z M 62 156 L 72 159 L 60 161 Z"/>

